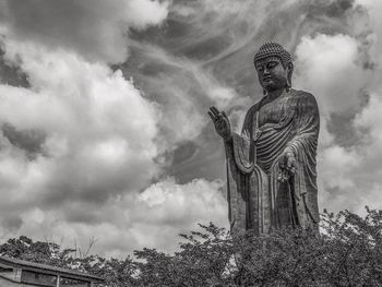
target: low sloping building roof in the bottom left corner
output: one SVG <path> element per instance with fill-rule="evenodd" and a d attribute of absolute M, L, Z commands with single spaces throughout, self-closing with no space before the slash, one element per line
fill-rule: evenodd
<path fill-rule="evenodd" d="M 11 259 L 8 256 L 0 256 L 0 263 L 12 267 L 19 267 L 22 270 L 34 271 L 34 272 L 39 272 L 44 274 L 60 275 L 64 277 L 67 276 L 70 278 L 76 278 L 76 279 L 83 279 L 83 280 L 87 279 L 92 282 L 104 282 L 104 278 L 94 276 L 92 274 L 87 274 L 79 271 L 65 270 L 61 267 L 56 267 L 56 266 L 41 264 L 41 263 L 35 263 L 35 262 L 25 261 L 25 260 Z"/>

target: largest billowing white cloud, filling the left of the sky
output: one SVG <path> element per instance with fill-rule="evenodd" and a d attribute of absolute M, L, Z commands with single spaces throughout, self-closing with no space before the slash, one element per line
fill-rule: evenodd
<path fill-rule="evenodd" d="M 14 181 L 3 190 L 10 199 L 103 202 L 127 188 L 144 188 L 158 172 L 160 112 L 120 71 L 36 44 L 7 41 L 4 57 L 22 59 L 31 87 L 0 85 L 1 122 L 21 134 L 44 134 L 34 160 L 3 135 L 2 170 L 16 174 L 5 177 Z"/>

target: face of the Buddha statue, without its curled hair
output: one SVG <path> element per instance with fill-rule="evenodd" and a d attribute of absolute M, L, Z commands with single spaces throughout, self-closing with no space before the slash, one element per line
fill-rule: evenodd
<path fill-rule="evenodd" d="M 268 57 L 255 62 L 259 83 L 266 91 L 284 88 L 287 84 L 288 69 L 278 57 Z"/>

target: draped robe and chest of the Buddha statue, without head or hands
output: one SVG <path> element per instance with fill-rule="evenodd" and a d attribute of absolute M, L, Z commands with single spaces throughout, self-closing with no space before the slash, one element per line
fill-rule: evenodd
<path fill-rule="evenodd" d="M 319 223 L 315 153 L 320 130 L 315 98 L 290 89 L 246 115 L 242 133 L 226 143 L 227 200 L 231 230 L 256 234 Z M 290 152 L 296 172 L 279 182 L 279 159 Z"/>

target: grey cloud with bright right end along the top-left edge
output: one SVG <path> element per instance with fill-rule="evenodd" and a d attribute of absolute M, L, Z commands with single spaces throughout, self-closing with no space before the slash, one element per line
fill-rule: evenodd
<path fill-rule="evenodd" d="M 162 23 L 167 2 L 152 0 L 1 0 L 0 22 L 8 36 L 74 50 L 87 59 L 122 62 L 129 28 Z"/>

